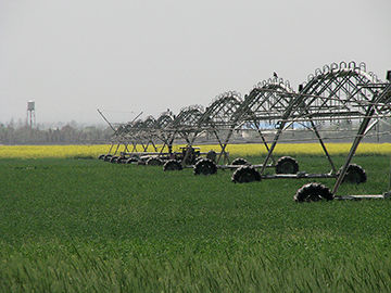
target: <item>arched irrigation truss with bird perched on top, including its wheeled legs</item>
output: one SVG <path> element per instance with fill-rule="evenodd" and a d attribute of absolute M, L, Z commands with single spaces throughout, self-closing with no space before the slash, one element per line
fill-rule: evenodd
<path fill-rule="evenodd" d="M 223 135 L 218 138 L 220 145 L 220 152 L 217 157 L 219 162 L 220 157 L 226 153 L 228 143 L 231 142 L 236 132 L 247 133 L 255 132 L 260 138 L 261 143 L 265 146 L 266 151 L 269 150 L 266 142 L 264 131 L 270 132 L 276 126 L 276 120 L 280 116 L 282 110 L 290 103 L 289 99 L 280 93 L 293 92 L 289 81 L 285 81 L 282 78 L 269 78 L 258 82 L 253 90 L 244 97 L 243 101 L 237 103 L 236 107 L 230 107 L 229 115 L 226 115 L 226 119 L 223 125 L 218 125 L 219 132 Z M 226 162 L 225 162 L 226 163 Z M 229 162 L 228 162 L 229 163 Z M 238 169 L 241 164 L 243 168 L 249 169 L 249 173 L 253 171 L 253 168 L 260 168 L 262 165 L 253 165 L 252 167 L 245 166 L 248 162 L 242 158 L 234 161 L 232 164 L 218 165 L 222 169 Z M 292 157 L 281 157 L 278 161 L 272 156 L 272 164 L 266 166 L 267 168 L 275 168 L 276 173 L 297 173 L 299 170 L 298 162 Z M 241 178 L 241 171 L 234 175 L 234 181 L 249 181 L 249 178 Z M 254 178 L 257 178 L 256 176 Z"/>

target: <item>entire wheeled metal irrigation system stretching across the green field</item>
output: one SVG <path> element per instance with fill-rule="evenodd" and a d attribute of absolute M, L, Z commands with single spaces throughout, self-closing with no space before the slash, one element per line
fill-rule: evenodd
<path fill-rule="evenodd" d="M 294 91 L 288 81 L 270 78 L 257 84 L 242 99 L 237 92 L 218 95 L 204 109 L 192 105 L 174 115 L 162 113 L 156 119 L 138 115 L 127 124 L 112 125 L 112 144 L 99 158 L 112 163 L 164 165 L 164 170 L 192 167 L 194 174 L 212 175 L 222 169 L 235 169 L 232 181 L 238 183 L 279 178 L 335 178 L 331 190 L 320 183 L 308 183 L 298 190 L 298 202 L 321 199 L 378 199 L 380 195 L 336 195 L 342 182 L 366 181 L 365 170 L 351 164 L 364 137 L 383 135 L 380 123 L 391 117 L 391 71 L 387 81 L 366 71 L 364 63 L 341 62 L 325 65 L 307 77 Z M 389 125 L 388 125 L 389 126 Z M 386 132 L 384 132 L 386 133 Z M 390 132 L 387 132 L 389 135 Z M 262 164 L 251 165 L 243 158 L 230 163 L 226 151 L 229 143 L 251 139 L 264 145 Z M 331 157 L 327 140 L 350 140 L 350 152 L 340 168 Z M 329 163 L 329 169 L 318 174 L 299 171 L 299 163 L 290 156 L 274 157 L 279 142 L 317 141 Z M 185 143 L 174 152 L 174 143 Z M 201 153 L 200 144 L 217 144 L 219 151 Z M 124 151 L 118 153 L 123 145 Z M 157 146 L 160 145 L 160 146 Z M 151 146 L 153 152 L 148 152 Z M 141 150 L 139 150 L 141 148 Z M 205 157 L 204 157 L 205 156 Z M 266 171 L 274 168 L 275 174 Z"/>

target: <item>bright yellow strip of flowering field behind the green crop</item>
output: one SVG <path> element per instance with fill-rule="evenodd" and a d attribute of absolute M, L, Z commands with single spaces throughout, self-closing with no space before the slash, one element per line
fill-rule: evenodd
<path fill-rule="evenodd" d="M 346 154 L 351 148 L 351 143 L 327 143 L 329 153 Z M 160 146 L 160 145 L 157 145 Z M 177 145 L 175 150 L 178 150 Z M 100 154 L 108 153 L 110 145 L 0 145 L 0 158 L 17 157 L 17 158 L 41 158 L 41 157 L 98 157 Z M 119 148 L 118 152 L 123 151 Z M 210 150 L 219 151 L 218 145 L 201 145 L 202 152 Z M 138 149 L 141 151 L 141 148 Z M 153 151 L 149 148 L 148 151 Z M 227 146 L 230 156 L 256 156 L 266 153 L 263 144 L 230 144 Z M 323 155 L 323 150 L 318 143 L 280 143 L 275 150 L 276 155 Z M 357 154 L 391 154 L 391 143 L 362 143 L 358 146 Z"/>

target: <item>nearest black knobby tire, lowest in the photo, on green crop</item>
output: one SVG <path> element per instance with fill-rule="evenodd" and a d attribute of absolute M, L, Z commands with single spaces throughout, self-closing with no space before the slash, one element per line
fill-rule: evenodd
<path fill-rule="evenodd" d="M 318 202 L 321 200 L 332 201 L 333 195 L 327 187 L 321 183 L 314 182 L 300 188 L 294 194 L 293 200 L 298 203 Z"/>

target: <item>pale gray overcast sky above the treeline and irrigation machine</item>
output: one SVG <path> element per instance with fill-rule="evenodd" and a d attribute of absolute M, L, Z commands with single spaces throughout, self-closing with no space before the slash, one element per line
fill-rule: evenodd
<path fill-rule="evenodd" d="M 325 64 L 391 69 L 390 0 L 0 0 L 0 122 L 130 120 L 277 72 L 294 89 Z M 129 112 L 129 113 L 127 113 Z"/>

